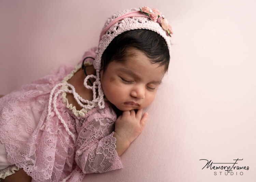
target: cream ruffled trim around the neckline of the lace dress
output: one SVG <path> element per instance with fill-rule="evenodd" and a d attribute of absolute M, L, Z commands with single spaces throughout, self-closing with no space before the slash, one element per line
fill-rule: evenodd
<path fill-rule="evenodd" d="M 92 65 L 92 63 L 90 61 L 85 61 L 85 63 L 87 65 Z M 78 66 L 75 67 L 75 69 L 73 71 L 71 71 L 70 74 L 68 74 L 65 78 L 63 78 L 62 80 L 62 83 L 68 83 L 67 81 L 72 78 L 72 76 L 74 76 L 74 74 L 80 70 L 82 68 L 82 63 L 80 63 Z M 67 85 L 63 85 L 61 87 L 61 89 L 66 89 L 68 90 L 68 86 Z M 61 94 L 61 98 L 62 98 L 62 102 L 66 105 L 66 107 L 72 111 L 72 113 L 78 117 L 84 117 L 85 116 L 85 113 L 89 112 L 91 109 L 85 109 L 85 108 L 82 108 L 81 110 L 76 110 L 75 106 L 73 106 L 72 104 L 69 104 L 68 102 L 68 99 L 67 99 L 67 93 L 66 92 L 63 92 Z M 93 109 L 93 108 L 92 108 Z"/>

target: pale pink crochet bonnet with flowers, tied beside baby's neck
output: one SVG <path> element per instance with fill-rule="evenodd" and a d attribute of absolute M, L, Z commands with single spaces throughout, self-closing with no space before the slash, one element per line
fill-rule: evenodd
<path fill-rule="evenodd" d="M 124 11 L 119 11 L 108 18 L 103 26 L 100 34 L 99 45 L 96 50 L 96 58 L 94 60 L 95 75 L 88 75 L 84 80 L 84 86 L 88 89 L 93 89 L 93 103 L 100 108 L 104 108 L 104 93 L 100 82 L 101 56 L 110 42 L 119 34 L 134 29 L 148 29 L 157 32 L 167 43 L 169 53 L 171 53 L 170 37 L 173 34 L 171 26 L 164 16 L 157 9 L 150 9 L 147 6 L 142 8 L 131 8 Z M 87 80 L 96 78 L 93 86 L 87 85 Z M 96 89 L 98 96 L 96 97 Z M 86 106 L 84 106 L 86 108 Z"/>

